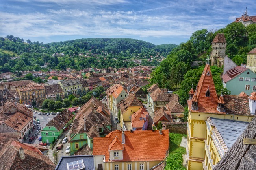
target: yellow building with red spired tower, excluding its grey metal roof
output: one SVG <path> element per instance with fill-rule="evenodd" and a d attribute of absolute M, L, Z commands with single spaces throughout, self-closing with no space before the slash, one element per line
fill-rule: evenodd
<path fill-rule="evenodd" d="M 228 148 L 222 145 L 225 141 L 221 139 L 219 139 L 219 142 L 212 141 L 210 135 L 212 130 L 207 127 L 207 120 L 210 118 L 250 122 L 255 116 L 255 101 L 248 99 L 247 96 L 236 95 L 221 95 L 218 98 L 210 66 L 206 64 L 195 91 L 193 88 L 189 91 L 187 104 L 189 109 L 187 169 L 211 170 L 221 159 L 218 150 L 221 147 L 223 150 L 228 150 Z M 254 113 L 250 112 L 253 109 Z M 217 135 L 221 137 L 221 134 Z M 213 143 L 217 143 L 217 147 Z"/>

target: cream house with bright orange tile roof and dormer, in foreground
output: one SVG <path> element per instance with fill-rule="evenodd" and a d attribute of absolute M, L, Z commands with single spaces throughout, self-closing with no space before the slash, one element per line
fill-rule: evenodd
<path fill-rule="evenodd" d="M 169 130 L 115 130 L 93 138 L 95 170 L 150 170 L 164 162 L 168 148 Z"/>

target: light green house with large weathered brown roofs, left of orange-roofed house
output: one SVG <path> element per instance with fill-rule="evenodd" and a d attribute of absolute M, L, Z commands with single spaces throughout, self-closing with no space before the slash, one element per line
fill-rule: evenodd
<path fill-rule="evenodd" d="M 88 106 L 88 102 L 84 106 Z M 101 106 L 89 106 L 86 110 L 80 109 L 70 130 L 70 155 L 85 144 L 93 149 L 93 137 L 105 137 L 111 132 L 111 119 L 99 112 L 101 109 Z"/>

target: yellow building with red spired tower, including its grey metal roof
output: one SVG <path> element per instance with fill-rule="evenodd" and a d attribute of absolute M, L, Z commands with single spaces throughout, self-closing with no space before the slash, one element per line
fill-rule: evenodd
<path fill-rule="evenodd" d="M 224 42 L 222 42 L 224 43 Z M 209 60 L 189 91 L 186 165 L 212 170 L 255 116 L 256 92 L 217 95 Z"/>

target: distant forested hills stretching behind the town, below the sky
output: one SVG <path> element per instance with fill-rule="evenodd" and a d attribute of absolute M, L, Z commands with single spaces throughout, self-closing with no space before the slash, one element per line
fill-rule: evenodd
<path fill-rule="evenodd" d="M 155 46 L 130 38 L 88 38 L 43 44 L 7 35 L 0 37 L 0 71 L 39 71 L 45 63 L 49 63 L 48 68 L 59 70 L 121 68 L 136 66 L 135 59 L 141 60 L 141 65 L 157 66 L 161 56 L 166 57 L 175 47 L 175 44 Z"/>

